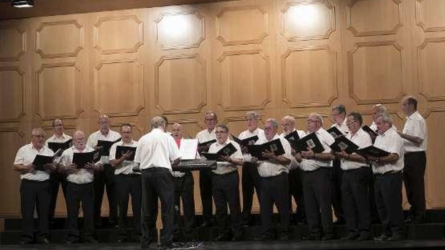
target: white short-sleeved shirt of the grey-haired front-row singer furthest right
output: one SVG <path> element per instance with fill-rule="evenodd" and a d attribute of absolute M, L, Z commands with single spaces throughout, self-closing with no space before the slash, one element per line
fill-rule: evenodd
<path fill-rule="evenodd" d="M 398 160 L 389 162 L 384 165 L 378 163 L 372 164 L 372 172 L 374 174 L 384 174 L 391 171 L 400 171 L 404 167 L 404 148 L 403 140 L 397 131 L 388 129 L 385 133 L 379 134 L 374 142 L 374 146 L 383 149 L 391 154 L 397 154 Z"/>

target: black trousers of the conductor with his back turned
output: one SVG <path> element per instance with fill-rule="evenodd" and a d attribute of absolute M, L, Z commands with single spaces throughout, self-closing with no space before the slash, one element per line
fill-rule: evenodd
<path fill-rule="evenodd" d="M 158 197 L 161 199 L 163 226 L 161 243 L 169 245 L 173 240 L 173 176 L 166 168 L 144 169 L 142 171 L 142 245 L 149 245 L 153 241 L 153 221 L 156 221 L 153 217 L 157 212 L 155 208 L 157 208 Z"/>

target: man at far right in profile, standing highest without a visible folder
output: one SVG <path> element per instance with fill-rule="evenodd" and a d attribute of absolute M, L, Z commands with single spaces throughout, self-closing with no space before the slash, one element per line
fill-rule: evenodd
<path fill-rule="evenodd" d="M 405 167 L 404 182 L 408 202 L 411 205 L 406 222 L 423 223 L 425 221 L 425 168 L 428 133 L 425 119 L 417 111 L 417 100 L 408 96 L 402 103 L 402 110 L 407 116 L 403 131 L 398 131 L 404 140 Z"/>

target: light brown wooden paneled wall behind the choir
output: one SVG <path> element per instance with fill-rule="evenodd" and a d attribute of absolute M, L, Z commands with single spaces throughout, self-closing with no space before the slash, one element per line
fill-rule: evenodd
<path fill-rule="evenodd" d="M 249 110 L 305 129 L 311 112 L 329 126 L 337 104 L 370 123 L 383 103 L 402 128 L 407 94 L 429 129 L 427 206 L 444 208 L 443 65 L 445 0 L 242 0 L 0 22 L 0 216 L 20 213 L 17 149 L 32 127 L 49 136 L 55 117 L 90 133 L 107 114 L 139 138 L 164 115 L 193 137 L 209 110 L 237 134 Z"/>

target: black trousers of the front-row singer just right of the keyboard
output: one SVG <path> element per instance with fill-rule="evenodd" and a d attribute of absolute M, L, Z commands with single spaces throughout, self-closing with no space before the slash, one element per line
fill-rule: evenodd
<path fill-rule="evenodd" d="M 239 238 L 241 228 L 240 176 L 238 171 L 228 174 L 213 174 L 213 198 L 215 201 L 215 217 L 219 234 L 232 234 Z M 228 226 L 227 206 L 230 209 L 230 227 Z"/>

